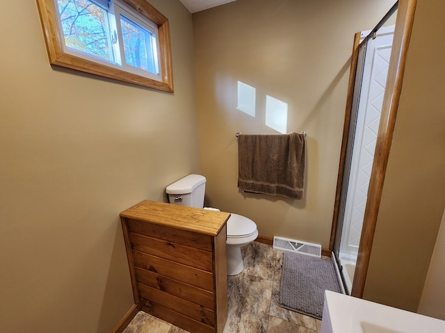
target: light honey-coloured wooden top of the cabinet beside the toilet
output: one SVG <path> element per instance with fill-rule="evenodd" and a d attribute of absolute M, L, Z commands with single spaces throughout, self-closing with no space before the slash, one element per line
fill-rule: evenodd
<path fill-rule="evenodd" d="M 216 236 L 230 213 L 145 200 L 120 213 L 120 216 Z"/>

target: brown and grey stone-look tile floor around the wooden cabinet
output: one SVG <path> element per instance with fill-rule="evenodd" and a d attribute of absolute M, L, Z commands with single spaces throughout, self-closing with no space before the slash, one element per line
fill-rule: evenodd
<path fill-rule="evenodd" d="M 318 333 L 321 321 L 278 306 L 283 253 L 254 241 L 243 248 L 244 271 L 229 276 L 224 333 Z M 124 333 L 188 333 L 139 312 Z M 191 332 L 193 333 L 193 332 Z"/>

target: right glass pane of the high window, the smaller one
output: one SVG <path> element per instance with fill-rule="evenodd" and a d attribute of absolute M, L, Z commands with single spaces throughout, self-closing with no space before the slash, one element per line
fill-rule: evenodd
<path fill-rule="evenodd" d="M 120 15 L 125 62 L 154 74 L 159 74 L 156 57 L 156 37 L 142 26 Z"/>

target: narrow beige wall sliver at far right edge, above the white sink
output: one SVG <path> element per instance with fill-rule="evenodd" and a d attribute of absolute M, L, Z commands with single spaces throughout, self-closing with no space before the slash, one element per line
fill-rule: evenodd
<path fill-rule="evenodd" d="M 445 321 L 445 211 L 417 312 Z"/>

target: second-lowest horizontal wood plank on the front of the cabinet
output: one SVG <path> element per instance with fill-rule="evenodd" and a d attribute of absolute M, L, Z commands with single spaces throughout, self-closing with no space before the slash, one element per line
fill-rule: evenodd
<path fill-rule="evenodd" d="M 138 290 L 140 297 L 145 300 L 150 300 L 154 304 L 161 305 L 165 309 L 170 309 L 204 325 L 215 326 L 215 313 L 210 309 L 158 289 L 147 287 L 144 284 L 138 284 Z"/>

